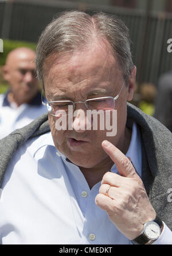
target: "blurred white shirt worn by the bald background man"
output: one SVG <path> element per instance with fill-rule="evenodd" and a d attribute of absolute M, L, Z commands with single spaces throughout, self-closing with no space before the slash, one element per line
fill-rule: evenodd
<path fill-rule="evenodd" d="M 34 104 L 22 104 L 17 107 L 13 102 L 7 101 L 7 94 L 0 95 L 0 139 L 9 135 L 15 129 L 24 127 L 41 114 L 46 112 L 41 104 L 41 94 L 34 98 Z"/>

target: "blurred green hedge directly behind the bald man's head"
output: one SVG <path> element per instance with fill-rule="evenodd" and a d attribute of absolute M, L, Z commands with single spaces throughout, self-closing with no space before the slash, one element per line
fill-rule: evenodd
<path fill-rule="evenodd" d="M 36 44 L 26 41 L 13 41 L 3 40 L 3 52 L 0 52 L 0 94 L 5 93 L 7 90 L 7 82 L 2 77 L 2 66 L 5 64 L 5 60 L 10 51 L 18 47 L 29 47 L 36 50 Z"/>

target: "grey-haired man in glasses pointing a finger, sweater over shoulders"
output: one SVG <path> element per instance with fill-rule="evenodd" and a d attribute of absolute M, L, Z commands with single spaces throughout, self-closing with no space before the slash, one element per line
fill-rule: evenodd
<path fill-rule="evenodd" d="M 62 13 L 36 65 L 48 116 L 1 140 L 2 244 L 172 244 L 171 133 L 127 104 L 136 67 L 123 22 Z M 93 129 L 88 110 L 107 119 Z"/>

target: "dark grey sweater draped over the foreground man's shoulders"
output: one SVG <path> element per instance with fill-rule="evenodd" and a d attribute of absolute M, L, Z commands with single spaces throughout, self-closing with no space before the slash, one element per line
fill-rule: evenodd
<path fill-rule="evenodd" d="M 157 215 L 172 230 L 172 136 L 154 117 L 128 104 L 127 126 L 135 121 L 142 137 L 142 180 Z M 48 114 L 43 114 L 24 128 L 0 140 L 0 188 L 10 159 L 26 140 L 49 132 Z M 171 194 L 170 194 L 171 193 Z"/>

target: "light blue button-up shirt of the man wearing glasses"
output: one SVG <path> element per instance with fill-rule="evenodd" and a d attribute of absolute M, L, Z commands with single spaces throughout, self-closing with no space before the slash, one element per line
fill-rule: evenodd
<path fill-rule="evenodd" d="M 141 175 L 136 124 L 126 156 Z M 115 164 L 111 171 L 118 172 Z M 100 185 L 89 189 L 79 167 L 54 147 L 50 132 L 29 140 L 16 151 L 3 180 L 2 244 L 132 244 L 95 204 Z M 172 244 L 166 225 L 154 244 Z"/>

